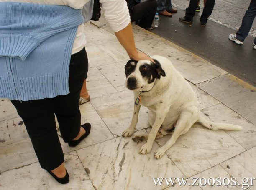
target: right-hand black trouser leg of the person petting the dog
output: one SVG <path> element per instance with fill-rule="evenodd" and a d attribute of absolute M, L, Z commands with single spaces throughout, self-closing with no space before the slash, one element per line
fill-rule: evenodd
<path fill-rule="evenodd" d="M 77 137 L 81 128 L 79 98 L 88 70 L 88 59 L 85 49 L 71 56 L 69 67 L 69 94 L 51 99 L 54 113 L 64 142 Z"/>

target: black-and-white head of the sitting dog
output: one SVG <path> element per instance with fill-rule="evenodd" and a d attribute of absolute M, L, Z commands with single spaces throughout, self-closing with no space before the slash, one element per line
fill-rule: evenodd
<path fill-rule="evenodd" d="M 126 87 L 130 90 L 148 91 L 165 72 L 160 63 L 154 60 L 129 60 L 125 65 Z"/>

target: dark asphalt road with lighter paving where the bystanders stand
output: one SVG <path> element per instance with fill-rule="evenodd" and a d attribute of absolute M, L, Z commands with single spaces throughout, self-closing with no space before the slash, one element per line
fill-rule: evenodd
<path fill-rule="evenodd" d="M 173 4 L 176 1 L 178 2 L 179 0 L 174 0 Z M 179 7 L 185 6 L 182 2 L 186 2 L 188 6 L 187 0 L 181 0 Z M 223 3 L 224 1 L 216 0 L 215 7 L 217 8 L 220 7 L 218 2 Z M 234 0 L 233 2 L 238 1 Z M 228 39 L 230 33 L 236 33 L 236 30 L 232 28 L 240 26 L 243 14 L 247 9 L 245 7 L 249 5 L 248 0 L 241 2 L 247 3 L 242 3 L 243 7 L 241 7 L 239 14 L 236 14 L 236 16 L 239 15 L 240 21 L 236 20 L 238 18 L 233 19 L 233 15 L 230 15 L 231 13 L 229 14 L 228 10 L 225 10 L 226 13 L 221 13 L 221 15 L 218 15 L 220 13 L 213 14 L 211 20 L 208 20 L 206 27 L 200 26 L 200 16 L 198 15 L 195 15 L 193 24 L 189 25 L 178 20 L 179 17 L 185 14 L 184 10 L 178 8 L 178 13 L 173 14 L 172 18 L 160 15 L 159 27 L 151 30 L 151 32 L 174 42 L 256 86 L 256 50 L 253 49 L 254 31 L 252 30 L 252 34 L 246 38 L 243 45 L 237 45 Z M 234 3 L 233 7 L 237 7 L 237 5 Z M 228 9 L 232 10 L 233 7 L 230 4 Z M 235 13 L 232 11 L 232 14 Z M 223 24 L 225 20 L 226 24 Z M 255 27 L 255 23 L 253 26 Z"/>

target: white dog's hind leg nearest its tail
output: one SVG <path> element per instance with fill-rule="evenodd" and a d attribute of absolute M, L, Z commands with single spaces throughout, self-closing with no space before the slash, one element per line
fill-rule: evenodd
<path fill-rule="evenodd" d="M 187 133 L 192 125 L 198 120 L 199 110 L 197 107 L 190 107 L 187 110 L 181 112 L 179 119 L 174 128 L 172 137 L 166 142 L 166 144 L 156 150 L 155 158 L 161 158 L 166 150 L 168 150 L 177 140 L 180 135 Z"/>

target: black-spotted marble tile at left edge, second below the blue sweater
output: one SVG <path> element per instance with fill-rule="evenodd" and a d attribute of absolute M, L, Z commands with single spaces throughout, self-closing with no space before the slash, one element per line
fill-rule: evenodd
<path fill-rule="evenodd" d="M 20 117 L 0 121 L 0 134 L 0 147 L 28 138 L 26 127 Z"/>

